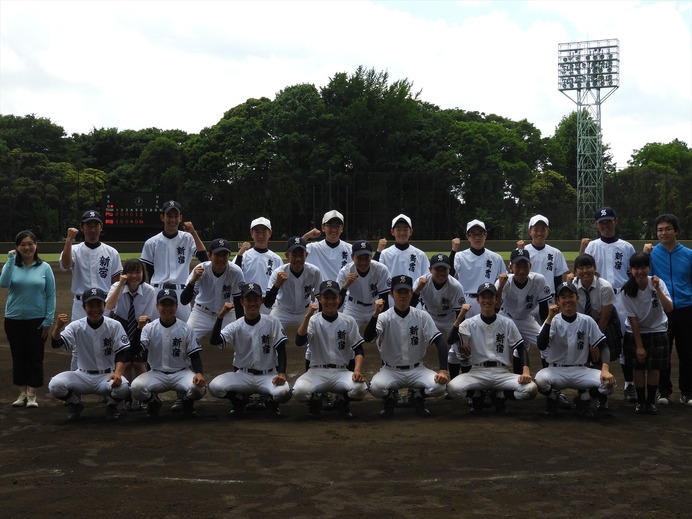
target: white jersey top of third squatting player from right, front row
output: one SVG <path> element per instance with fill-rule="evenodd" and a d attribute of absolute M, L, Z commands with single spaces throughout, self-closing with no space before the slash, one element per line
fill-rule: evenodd
<path fill-rule="evenodd" d="M 394 308 L 377 316 L 377 346 L 390 366 L 421 362 L 428 345 L 439 335 L 432 317 L 417 308 L 409 308 L 406 317 L 399 317 Z"/>

